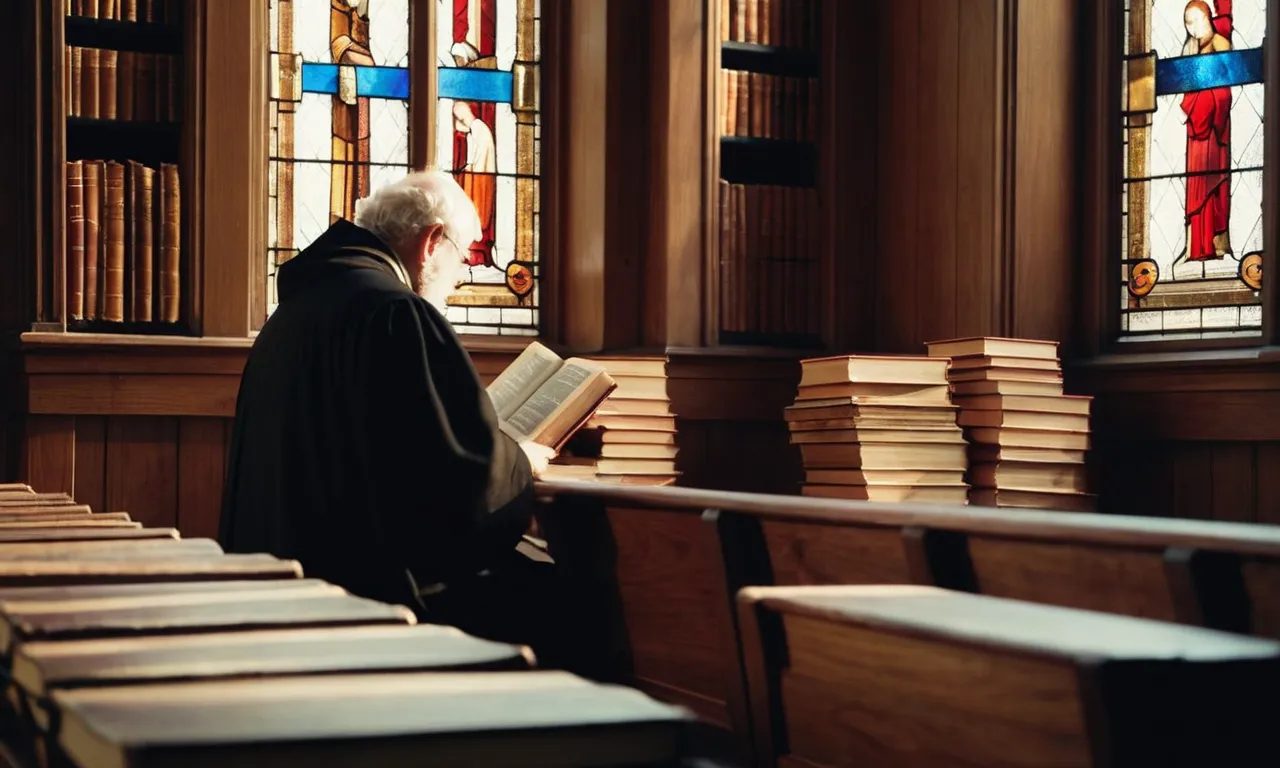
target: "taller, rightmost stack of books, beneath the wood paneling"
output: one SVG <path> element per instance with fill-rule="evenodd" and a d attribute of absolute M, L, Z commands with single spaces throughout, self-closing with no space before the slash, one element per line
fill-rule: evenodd
<path fill-rule="evenodd" d="M 1062 393 L 1057 342 L 970 338 L 929 342 L 951 360 L 952 399 L 969 440 L 969 502 L 1088 512 L 1091 398 Z"/>

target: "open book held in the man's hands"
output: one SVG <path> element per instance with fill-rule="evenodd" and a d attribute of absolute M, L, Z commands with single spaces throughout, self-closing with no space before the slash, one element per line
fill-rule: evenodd
<path fill-rule="evenodd" d="M 489 398 L 511 439 L 559 451 L 616 387 L 598 362 L 532 342 L 489 384 Z"/>

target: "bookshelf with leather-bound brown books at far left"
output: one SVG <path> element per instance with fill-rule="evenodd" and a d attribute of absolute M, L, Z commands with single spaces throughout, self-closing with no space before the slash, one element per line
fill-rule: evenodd
<path fill-rule="evenodd" d="M 63 87 L 49 102 L 50 237 L 35 330 L 196 330 L 188 9 L 65 0 L 50 18 L 61 52 L 52 82 Z"/>

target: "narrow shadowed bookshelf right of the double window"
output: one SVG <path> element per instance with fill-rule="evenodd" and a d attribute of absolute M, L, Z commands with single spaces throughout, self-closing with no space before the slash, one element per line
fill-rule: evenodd
<path fill-rule="evenodd" d="M 822 0 L 708 0 L 718 343 L 819 348 Z"/>

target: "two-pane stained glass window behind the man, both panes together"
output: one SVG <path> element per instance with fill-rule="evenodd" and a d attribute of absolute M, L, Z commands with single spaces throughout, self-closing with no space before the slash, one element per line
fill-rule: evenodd
<path fill-rule="evenodd" d="M 410 13 L 435 3 L 436 147 L 484 237 L 460 333 L 538 333 L 540 0 L 269 0 L 269 305 L 275 269 L 410 170 Z M 417 14 L 426 18 L 425 13 Z M 419 127 L 425 129 L 426 127 Z"/>

